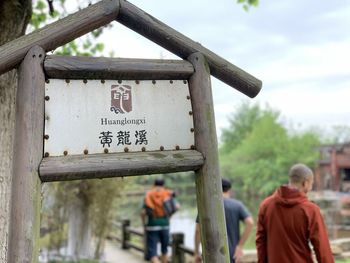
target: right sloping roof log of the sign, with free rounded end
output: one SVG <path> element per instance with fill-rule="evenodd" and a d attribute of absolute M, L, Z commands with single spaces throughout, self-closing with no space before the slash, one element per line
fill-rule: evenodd
<path fill-rule="evenodd" d="M 167 26 L 133 4 L 123 0 L 120 2 L 120 5 L 117 21 L 121 24 L 138 32 L 183 59 L 186 59 L 195 52 L 201 52 L 206 57 L 211 74 L 214 77 L 251 98 L 259 93 L 262 86 L 260 80 L 203 47 L 198 42 L 194 42 L 190 38 Z M 225 36 L 222 37 L 224 38 Z"/>

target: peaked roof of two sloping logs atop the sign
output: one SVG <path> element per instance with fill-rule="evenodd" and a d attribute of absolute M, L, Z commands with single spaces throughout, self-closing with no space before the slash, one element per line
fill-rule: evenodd
<path fill-rule="evenodd" d="M 183 59 L 196 52 L 202 53 L 214 77 L 249 97 L 255 97 L 261 89 L 262 82 L 257 78 L 125 0 L 102 0 L 0 46 L 0 74 L 16 67 L 35 45 L 47 52 L 113 20 Z"/>

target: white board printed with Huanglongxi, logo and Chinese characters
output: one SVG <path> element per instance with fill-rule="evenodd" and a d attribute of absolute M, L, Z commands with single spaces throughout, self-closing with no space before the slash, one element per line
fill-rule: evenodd
<path fill-rule="evenodd" d="M 45 135 L 46 156 L 190 149 L 188 83 L 50 79 Z"/>

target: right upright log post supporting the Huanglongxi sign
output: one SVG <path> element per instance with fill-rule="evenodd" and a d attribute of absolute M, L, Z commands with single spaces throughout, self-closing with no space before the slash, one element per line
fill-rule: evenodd
<path fill-rule="evenodd" d="M 188 60 L 195 69 L 189 79 L 195 147 L 204 157 L 204 165 L 195 175 L 203 259 L 207 263 L 230 262 L 209 66 L 199 52 Z"/>

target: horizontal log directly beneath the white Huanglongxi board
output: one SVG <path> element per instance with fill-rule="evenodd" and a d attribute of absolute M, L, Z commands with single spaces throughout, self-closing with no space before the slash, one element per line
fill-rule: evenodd
<path fill-rule="evenodd" d="M 40 164 L 44 182 L 193 171 L 203 164 L 194 150 L 47 157 Z"/>

